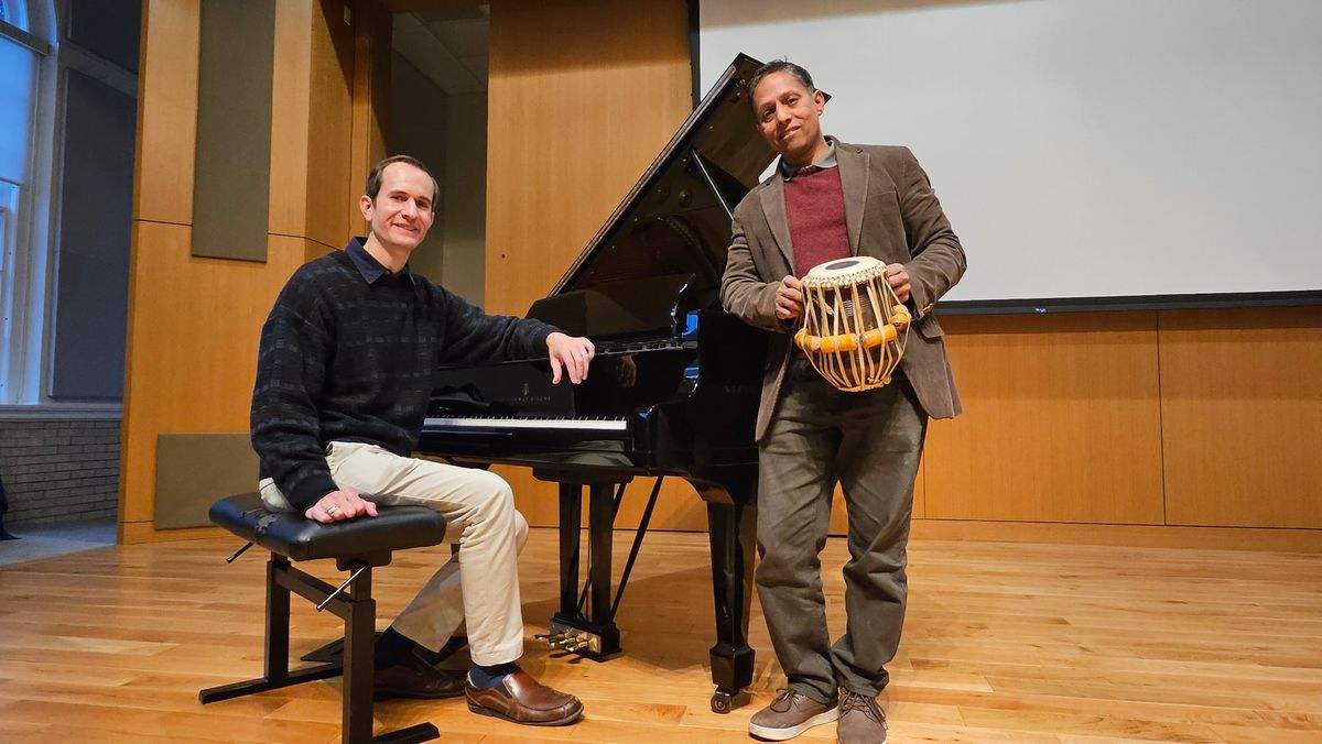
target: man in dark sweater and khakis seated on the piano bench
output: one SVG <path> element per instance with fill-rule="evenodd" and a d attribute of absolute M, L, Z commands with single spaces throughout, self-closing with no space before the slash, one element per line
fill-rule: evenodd
<path fill-rule="evenodd" d="M 535 321 L 489 316 L 408 271 L 435 214 L 436 181 L 407 156 L 373 168 L 360 200 L 366 239 L 293 272 L 262 329 L 253 447 L 267 507 L 330 523 L 377 505 L 446 515 L 459 551 L 377 644 L 375 695 L 467 695 L 469 710 L 537 725 L 583 704 L 516 666 L 524 651 L 518 551 L 527 522 L 485 470 L 410 457 L 443 363 L 550 357 L 553 381 L 587 377 L 592 344 Z M 436 666 L 467 625 L 467 675 Z"/>

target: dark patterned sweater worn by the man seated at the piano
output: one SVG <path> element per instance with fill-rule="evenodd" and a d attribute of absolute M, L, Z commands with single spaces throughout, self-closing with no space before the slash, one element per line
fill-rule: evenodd
<path fill-rule="evenodd" d="M 262 328 L 251 416 L 260 477 L 307 509 L 338 488 L 328 443 L 407 455 L 439 365 L 545 358 L 554 330 L 489 316 L 407 268 L 387 274 L 354 238 L 295 271 Z"/>

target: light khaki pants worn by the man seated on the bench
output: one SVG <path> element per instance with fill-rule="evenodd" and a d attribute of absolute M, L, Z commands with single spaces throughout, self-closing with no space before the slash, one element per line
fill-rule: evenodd
<path fill-rule="evenodd" d="M 459 552 L 399 613 L 395 630 L 435 651 L 467 622 L 473 663 L 505 663 L 524 654 L 518 552 L 527 540 L 527 521 L 514 509 L 509 484 L 486 470 L 401 457 L 356 441 L 330 443 L 327 465 L 336 485 L 368 501 L 427 506 L 449 522 L 446 539 L 457 543 Z M 293 511 L 271 478 L 259 489 L 271 511 Z"/>

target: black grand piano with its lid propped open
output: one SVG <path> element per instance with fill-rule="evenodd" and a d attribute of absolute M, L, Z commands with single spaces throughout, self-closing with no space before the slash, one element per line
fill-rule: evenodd
<path fill-rule="evenodd" d="M 755 542 L 754 424 L 765 337 L 720 309 L 735 205 L 775 153 L 756 136 L 739 56 L 551 293 L 527 316 L 596 346 L 588 379 L 550 383 L 545 359 L 442 369 L 419 452 L 461 465 L 526 465 L 559 484 L 561 601 L 549 641 L 594 659 L 620 653 L 615 613 L 661 477 L 706 501 L 717 642 L 711 707 L 742 704 Z M 612 597 L 624 485 L 660 476 Z M 583 489 L 588 576 L 579 589 Z"/>

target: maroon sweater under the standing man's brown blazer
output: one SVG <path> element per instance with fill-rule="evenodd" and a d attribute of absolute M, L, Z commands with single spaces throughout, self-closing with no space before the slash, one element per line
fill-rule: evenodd
<path fill-rule="evenodd" d="M 808 165 L 785 181 L 785 217 L 800 278 L 814 266 L 849 255 L 839 168 Z"/>

